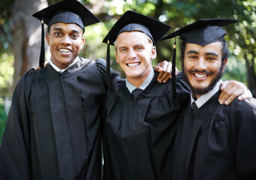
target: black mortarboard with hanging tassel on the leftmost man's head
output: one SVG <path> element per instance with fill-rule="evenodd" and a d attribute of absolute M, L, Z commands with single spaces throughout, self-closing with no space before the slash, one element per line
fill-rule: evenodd
<path fill-rule="evenodd" d="M 42 23 L 40 68 L 44 68 L 44 24 L 50 28 L 54 23 L 74 23 L 84 31 L 85 26 L 100 22 L 91 11 L 77 0 L 60 1 L 34 13 L 32 16 L 41 20 Z"/>

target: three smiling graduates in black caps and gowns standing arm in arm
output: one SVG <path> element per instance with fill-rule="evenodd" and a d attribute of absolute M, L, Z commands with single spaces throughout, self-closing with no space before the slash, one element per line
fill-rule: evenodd
<path fill-rule="evenodd" d="M 170 26 L 126 11 L 103 40 L 122 80 L 109 59 L 78 56 L 85 26 L 99 22 L 80 2 L 33 16 L 48 26 L 51 58 L 14 90 L 1 179 L 256 179 L 256 100 L 242 83 L 221 82 L 221 27 L 236 21 L 198 20 L 164 37 Z M 170 63 L 154 71 L 152 60 L 156 43 L 176 36 L 182 71 L 168 80 Z"/>

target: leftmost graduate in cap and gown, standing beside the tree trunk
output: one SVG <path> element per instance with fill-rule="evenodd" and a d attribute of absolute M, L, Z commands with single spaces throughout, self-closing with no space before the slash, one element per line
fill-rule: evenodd
<path fill-rule="evenodd" d="M 78 56 L 84 27 L 99 21 L 75 0 L 33 16 L 48 25 L 50 64 L 44 68 L 43 49 L 41 69 L 17 83 L 0 148 L 0 178 L 101 179 L 105 62 Z"/>

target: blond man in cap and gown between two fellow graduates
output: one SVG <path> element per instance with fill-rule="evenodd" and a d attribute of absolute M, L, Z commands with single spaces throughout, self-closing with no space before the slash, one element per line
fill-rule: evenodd
<path fill-rule="evenodd" d="M 104 38 L 115 46 L 116 62 L 126 75 L 106 95 L 104 179 L 170 179 L 176 120 L 189 91 L 179 74 L 174 99 L 172 83 L 158 83 L 152 70 L 155 43 L 169 29 L 128 10 Z"/>

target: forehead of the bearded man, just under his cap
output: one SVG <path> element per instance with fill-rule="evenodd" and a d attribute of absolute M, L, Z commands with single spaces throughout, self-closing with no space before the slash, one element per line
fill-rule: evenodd
<path fill-rule="evenodd" d="M 222 44 L 221 42 L 209 43 L 206 46 L 200 46 L 196 43 L 186 43 L 185 45 L 185 53 L 189 51 L 199 52 L 199 53 L 208 53 L 215 52 L 217 54 L 221 54 L 222 52 Z"/>

